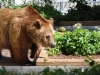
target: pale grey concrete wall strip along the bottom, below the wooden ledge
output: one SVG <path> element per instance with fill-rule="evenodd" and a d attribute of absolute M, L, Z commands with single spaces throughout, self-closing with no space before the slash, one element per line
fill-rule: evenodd
<path fill-rule="evenodd" d="M 50 70 L 61 68 L 64 71 L 74 68 L 82 68 L 82 71 L 84 71 L 85 68 L 88 68 L 88 66 L 4 66 L 7 71 L 15 71 L 17 73 L 32 73 L 35 72 L 35 75 L 37 75 L 40 71 L 43 71 L 46 67 L 50 67 Z M 2 66 L 0 66 L 0 69 L 2 69 Z"/>

